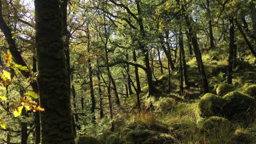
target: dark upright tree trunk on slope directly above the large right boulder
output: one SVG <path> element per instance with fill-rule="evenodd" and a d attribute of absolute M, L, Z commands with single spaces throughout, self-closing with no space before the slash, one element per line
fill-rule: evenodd
<path fill-rule="evenodd" d="M 235 44 L 235 28 L 234 28 L 234 17 L 229 19 L 230 28 L 229 28 L 229 65 L 228 65 L 228 78 L 227 83 L 232 84 L 232 75 L 233 75 L 233 61 L 234 61 L 234 44 Z"/>

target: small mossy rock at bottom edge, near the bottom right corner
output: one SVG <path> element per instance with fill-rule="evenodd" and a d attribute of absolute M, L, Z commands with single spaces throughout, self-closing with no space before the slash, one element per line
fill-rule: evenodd
<path fill-rule="evenodd" d="M 251 138 L 247 130 L 237 129 L 228 143 L 247 144 L 251 143 Z"/>

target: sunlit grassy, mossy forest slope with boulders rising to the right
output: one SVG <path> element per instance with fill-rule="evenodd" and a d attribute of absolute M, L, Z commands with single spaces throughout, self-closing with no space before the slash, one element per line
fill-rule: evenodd
<path fill-rule="evenodd" d="M 131 95 L 115 110 L 114 132 L 103 131 L 97 137 L 80 136 L 77 141 L 108 144 L 256 143 L 256 59 L 252 55 L 243 57 L 237 57 L 232 85 L 227 85 L 228 61 L 225 57 L 218 52 L 203 54 L 212 93 L 205 96 L 200 91 L 196 59 L 191 58 L 187 61 L 191 86 L 184 90 L 183 96 L 179 91 L 178 71 L 172 73 L 171 93 L 167 93 L 167 75 L 161 75 L 154 82 L 159 93 L 148 97 L 147 87 L 142 88 L 141 112 L 137 109 L 136 95 Z M 234 103 L 232 95 L 235 95 Z M 240 97 L 242 100 L 238 99 Z M 224 106 L 219 101 L 232 104 Z"/>

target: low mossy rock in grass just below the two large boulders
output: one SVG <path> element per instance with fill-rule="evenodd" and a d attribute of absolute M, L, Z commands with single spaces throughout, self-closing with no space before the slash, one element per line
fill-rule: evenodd
<path fill-rule="evenodd" d="M 210 117 L 202 122 L 200 131 L 206 134 L 231 131 L 231 123 L 223 117 Z"/>

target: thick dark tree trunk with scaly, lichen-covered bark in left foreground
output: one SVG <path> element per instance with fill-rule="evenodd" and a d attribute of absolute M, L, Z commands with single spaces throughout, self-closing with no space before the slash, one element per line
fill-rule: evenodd
<path fill-rule="evenodd" d="M 74 143 L 58 0 L 35 0 L 42 144 Z"/>

